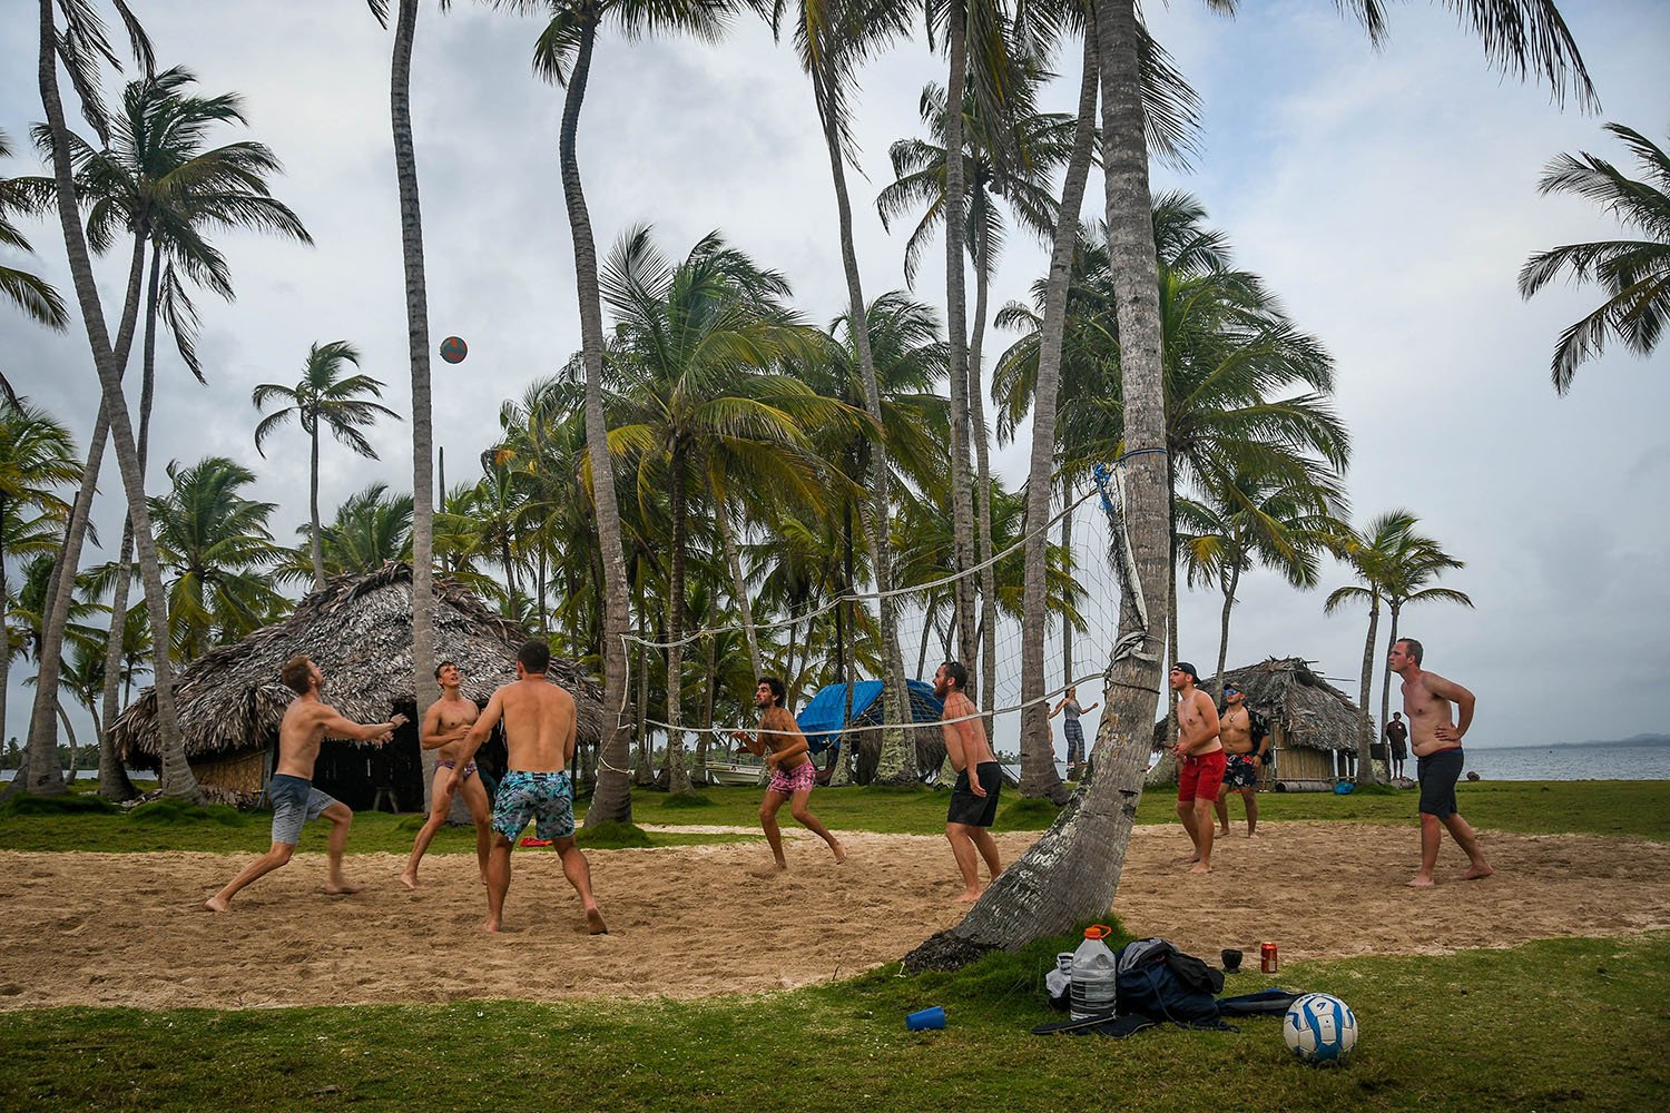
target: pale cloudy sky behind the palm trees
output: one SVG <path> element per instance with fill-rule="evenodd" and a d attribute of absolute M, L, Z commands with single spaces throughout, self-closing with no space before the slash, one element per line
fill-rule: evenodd
<path fill-rule="evenodd" d="M 1670 529 L 1652 504 L 1663 506 L 1660 492 L 1670 486 L 1670 434 L 1660 419 L 1670 402 L 1670 345 L 1650 359 L 1615 345 L 1558 397 L 1548 382 L 1555 337 L 1600 294 L 1558 285 L 1525 302 L 1515 277 L 1538 250 L 1618 234 L 1593 204 L 1543 197 L 1536 182 L 1561 152 L 1588 150 L 1633 170 L 1605 122 L 1665 142 L 1670 5 L 1563 5 L 1598 113 L 1571 98 L 1560 107 L 1546 87 L 1493 70 L 1445 5 L 1391 5 L 1379 52 L 1321 0 L 1242 5 L 1234 20 L 1182 0 L 1147 7 L 1154 35 L 1202 97 L 1204 125 L 1192 170 L 1156 167 L 1154 189 L 1199 197 L 1212 227 L 1229 235 L 1236 264 L 1264 275 L 1298 325 L 1333 354 L 1334 402 L 1354 444 L 1346 481 L 1354 521 L 1408 509 L 1423 532 L 1466 561 L 1443 586 L 1465 591 L 1475 607 L 1413 606 L 1403 629 L 1425 641 L 1431 671 L 1478 696 L 1468 744 L 1663 731 Z M 409 412 L 387 107 L 392 35 L 362 5 L 342 0 L 137 0 L 134 8 L 160 67 L 189 67 L 202 93 L 242 93 L 247 133 L 215 142 L 272 147 L 286 167 L 274 194 L 316 240 L 311 249 L 244 234 L 215 240 L 237 300 L 197 299 L 209 385 L 195 384 L 167 344 L 159 349 L 150 489 L 165 482 L 170 459 L 230 456 L 257 472 L 250 496 L 279 504 L 274 532 L 291 544 L 307 519 L 306 441 L 281 434 L 259 457 L 250 389 L 294 384 L 311 344 L 346 339 L 364 354 L 361 369 L 387 384 L 384 402 Z M 446 15 L 424 5 L 419 17 L 412 120 L 429 332 L 434 344 L 446 335 L 469 342 L 463 364 L 433 360 L 436 441 L 449 484 L 474 474 L 478 454 L 494 442 L 499 404 L 558 370 L 579 345 L 556 165 L 561 90 L 531 72 L 538 30 L 536 20 L 471 3 Z M 3 55 L 32 60 L 35 37 L 33 10 L 5 5 Z M 1077 65 L 1070 43 L 1045 108 L 1074 110 Z M 944 78 L 944 62 L 920 40 L 862 73 L 862 175 L 850 189 L 867 297 L 905 285 L 910 225 L 887 232 L 872 202 L 892 180 L 888 144 L 922 135 L 918 93 Z M 0 174 L 42 172 L 23 142 L 38 118 L 33 65 L 0 70 L 0 128 L 23 149 Z M 648 224 L 663 250 L 681 257 L 718 230 L 782 270 L 808 319 L 827 324 L 843 312 L 833 194 L 810 88 L 767 28 L 738 20 L 718 45 L 603 37 L 579 127 L 600 250 Z M 1101 205 L 1092 174 L 1086 215 L 1099 217 Z M 73 302 L 55 225 L 27 230 L 37 257 L 3 249 L 0 257 L 27 264 Z M 932 250 L 915 295 L 944 307 L 944 250 Z M 1029 297 L 1045 264 L 1047 247 L 1015 234 L 994 305 Z M 122 269 L 117 257 L 99 262 L 110 320 L 120 312 Z M 99 389 L 80 322 L 55 335 L 0 305 L 0 369 L 85 442 Z M 987 342 L 987 370 L 1009 340 L 999 334 Z M 369 439 L 379 461 L 324 446 L 322 514 L 371 482 L 411 489 L 409 427 L 386 422 Z M 1027 442 L 1022 429 L 1019 444 L 994 449 L 994 469 L 1010 486 L 1024 479 Z M 102 489 L 114 497 L 100 501 L 97 521 L 114 544 L 114 462 Z M 1328 591 L 1349 582 L 1338 564 L 1311 592 L 1252 572 L 1237 597 L 1231 667 L 1301 656 L 1354 694 L 1366 611 L 1323 614 Z M 1217 659 L 1219 607 L 1206 591 L 1181 602 L 1181 656 L 1206 672 Z M 1080 656 L 1094 652 L 1106 656 L 1106 646 L 1079 647 Z M 25 733 L 28 691 L 13 672 L 5 738 Z M 1378 703 L 1376 681 L 1376 711 Z"/>

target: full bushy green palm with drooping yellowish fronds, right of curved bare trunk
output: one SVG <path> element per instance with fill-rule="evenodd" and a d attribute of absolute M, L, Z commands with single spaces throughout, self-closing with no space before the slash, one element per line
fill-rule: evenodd
<path fill-rule="evenodd" d="M 728 462 L 775 472 L 800 499 L 820 502 L 807 429 L 850 421 L 852 410 L 817 395 L 798 379 L 767 374 L 777 360 L 812 344 L 783 307 L 788 284 L 762 270 L 716 234 L 703 237 L 678 264 L 631 229 L 610 252 L 603 299 L 616 320 L 611 352 L 621 375 L 621 424 L 611 447 L 636 457 L 640 499 L 671 497 L 668 547 L 668 771 L 675 793 L 690 791 L 680 736 L 683 676 L 685 542 L 691 477 L 711 484 Z M 608 474 L 608 472 L 606 472 Z M 596 472 L 595 472 L 596 476 Z M 723 516 L 723 486 L 715 491 Z"/>

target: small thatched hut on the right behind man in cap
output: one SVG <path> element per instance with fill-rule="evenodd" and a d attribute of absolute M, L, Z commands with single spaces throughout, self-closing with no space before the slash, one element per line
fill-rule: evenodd
<path fill-rule="evenodd" d="M 1226 679 L 1241 684 L 1247 706 L 1269 719 L 1276 764 L 1264 771 L 1263 788 L 1328 789 L 1351 776 L 1363 713 L 1349 696 L 1316 676 L 1301 657 L 1269 657 L 1261 664 L 1229 669 Z M 1216 681 L 1202 681 L 1201 691 L 1222 706 Z M 1171 744 L 1166 729 L 1166 719 L 1154 726 L 1156 746 Z M 1151 784 L 1166 779 L 1177 779 L 1169 758 L 1154 768 Z"/>

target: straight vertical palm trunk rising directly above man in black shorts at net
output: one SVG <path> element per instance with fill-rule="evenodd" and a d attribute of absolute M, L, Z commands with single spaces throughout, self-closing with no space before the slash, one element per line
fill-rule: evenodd
<path fill-rule="evenodd" d="M 947 5 L 945 32 L 950 75 L 945 82 L 945 330 L 950 340 L 950 512 L 957 571 L 967 572 L 974 559 L 974 492 L 969 482 L 969 309 L 964 267 L 964 200 L 967 177 L 962 165 L 962 98 L 969 83 L 969 12 L 964 0 Z M 975 582 L 957 579 L 957 656 L 975 662 L 979 656 L 974 619 Z"/>

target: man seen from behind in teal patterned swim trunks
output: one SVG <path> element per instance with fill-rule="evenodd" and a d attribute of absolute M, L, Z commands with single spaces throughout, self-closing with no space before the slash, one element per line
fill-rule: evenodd
<path fill-rule="evenodd" d="M 488 741 L 488 734 L 504 721 L 504 748 L 509 768 L 499 781 L 493 803 L 493 849 L 488 854 L 488 923 L 484 931 L 498 931 L 504 923 L 504 894 L 511 888 L 511 846 L 529 819 L 539 821 L 539 838 L 551 839 L 563 858 L 563 876 L 579 893 L 586 909 L 586 931 L 606 934 L 603 913 L 591 896 L 591 863 L 574 846 L 574 783 L 568 763 L 574 759 L 574 698 L 546 679 L 551 649 L 543 641 L 524 641 L 516 654 L 516 679 L 493 692 L 486 711 L 469 728 L 463 749 L 448 769 L 461 781 L 459 769 Z"/>

